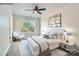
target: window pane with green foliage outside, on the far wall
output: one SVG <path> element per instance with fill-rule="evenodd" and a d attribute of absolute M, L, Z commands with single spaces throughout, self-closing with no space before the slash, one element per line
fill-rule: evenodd
<path fill-rule="evenodd" d="M 35 32 L 35 19 L 33 18 L 21 18 L 21 32 Z"/>

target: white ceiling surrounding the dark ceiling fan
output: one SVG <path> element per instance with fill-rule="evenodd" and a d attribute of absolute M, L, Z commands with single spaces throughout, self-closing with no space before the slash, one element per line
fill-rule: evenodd
<path fill-rule="evenodd" d="M 9 7 L 11 8 L 12 13 L 16 15 L 40 17 L 41 15 L 33 14 L 32 11 L 25 11 L 25 9 L 33 9 L 35 5 L 37 5 L 39 8 L 46 8 L 46 11 L 42 11 L 42 14 L 44 14 L 51 10 L 54 11 L 56 9 L 63 8 L 69 4 L 67 3 L 13 3 Z"/>

